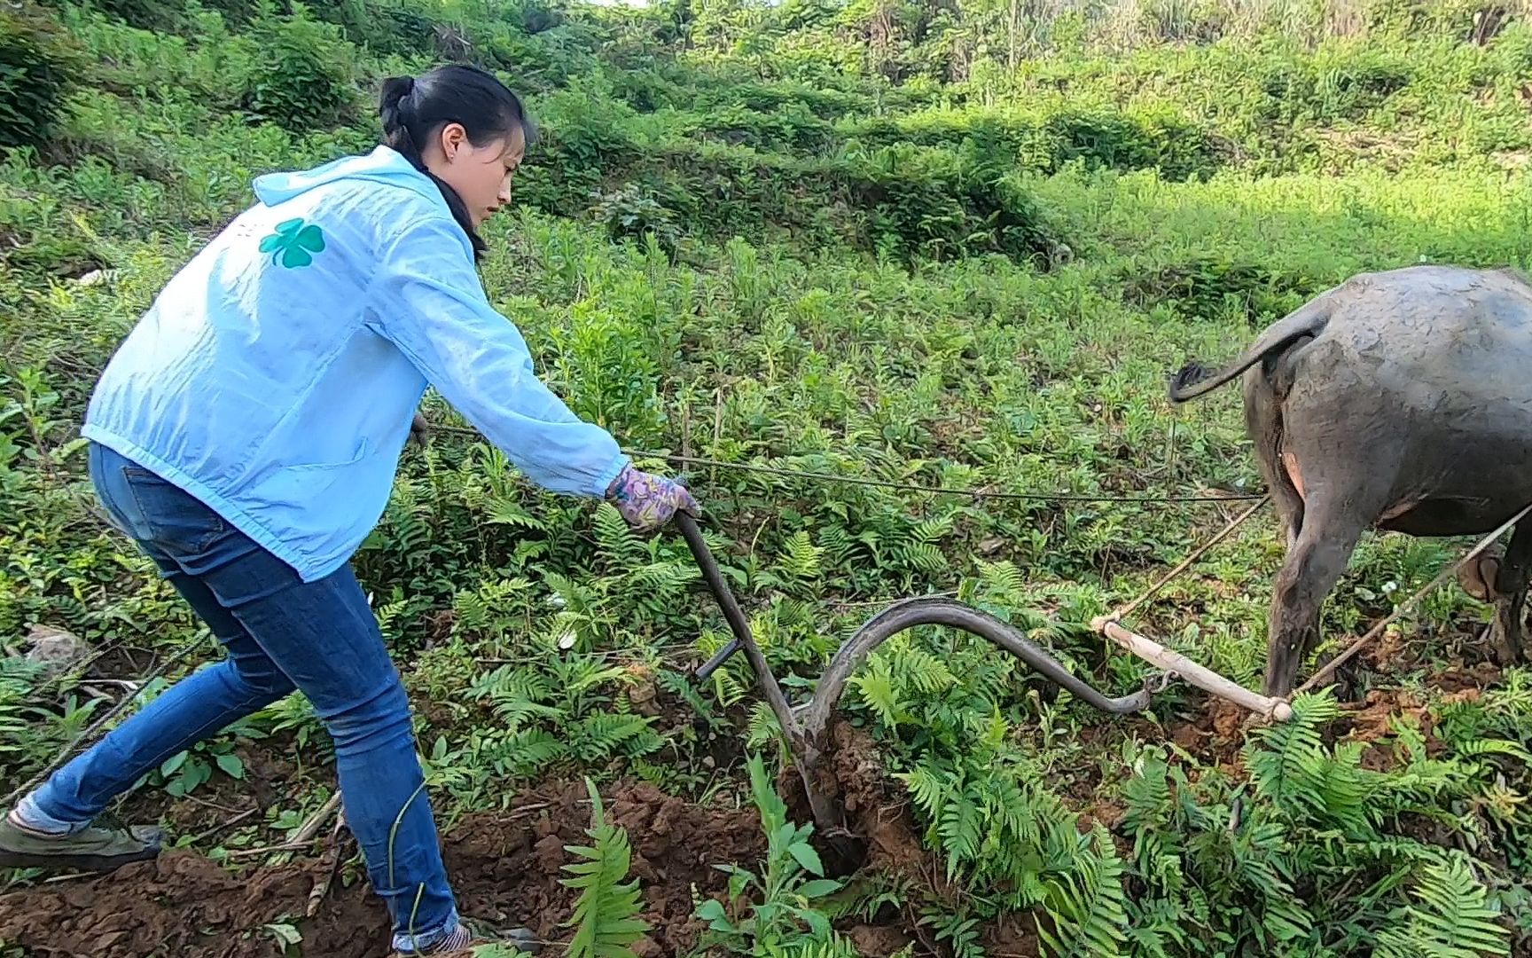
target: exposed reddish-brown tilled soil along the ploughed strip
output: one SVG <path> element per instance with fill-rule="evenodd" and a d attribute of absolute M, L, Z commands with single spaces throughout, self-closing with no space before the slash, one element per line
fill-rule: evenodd
<path fill-rule="evenodd" d="M 1455 681 L 1460 687 L 1455 694 L 1471 697 L 1494 679 L 1494 670 L 1463 668 L 1435 679 L 1443 687 Z M 1371 743 L 1385 734 L 1390 717 L 1419 711 L 1419 704 L 1406 694 L 1374 691 L 1363 702 L 1348 704 L 1336 731 Z M 1193 720 L 1174 725 L 1170 737 L 1233 766 L 1239 762 L 1246 717 L 1238 708 L 1209 700 Z M 884 776 L 872 737 L 840 722 L 829 739 L 820 786 L 843 805 L 847 826 L 864 838 L 863 854 L 835 871 L 902 874 L 938 895 L 954 894 L 922 849 L 908 796 Z M 778 786 L 792 817 L 810 822 L 797 771 L 786 771 Z M 1111 826 L 1120 817 L 1120 809 L 1086 799 L 1091 796 L 1080 797 L 1080 811 L 1089 820 Z M 613 786 L 604 802 L 610 819 L 628 831 L 631 874 L 640 880 L 643 918 L 651 926 L 634 950 L 640 958 L 685 953 L 703 930 L 692 918 L 697 900 L 725 892 L 728 875 L 714 866 L 758 868 L 764 837 L 757 811 L 723 803 L 705 806 L 648 783 L 627 782 Z M 460 820 L 443 840 L 460 909 L 507 926 L 527 926 L 547 944 L 544 955 L 561 955 L 561 943 L 570 935 L 562 923 L 574 901 L 574 892 L 559 883 L 567 877 L 561 869 L 570 861 L 564 846 L 587 843 L 590 812 L 582 782 L 555 782 L 522 794 L 510 809 Z M 833 858 L 826 852 L 832 849 L 821 838 L 817 845 L 830 864 Z M 348 854 L 352 849 L 349 845 Z M 170 851 L 109 877 L 0 895 L 0 949 L 20 947 L 23 955 L 38 958 L 265 958 L 280 955 L 271 926 L 288 924 L 302 935 L 297 952 L 305 956 L 388 955 L 386 910 L 354 864 L 332 883 L 317 914 L 305 917 L 311 894 L 328 878 L 331 866 L 332 857 L 323 855 L 234 871 L 196 852 Z M 947 953 L 913 918 L 878 915 L 878 921 L 850 923 L 843 930 L 870 958 L 892 955 L 912 943 L 919 955 Z M 984 943 L 990 953 L 1007 958 L 1036 955 L 1036 924 L 1030 915 L 1008 915 L 985 929 Z"/>

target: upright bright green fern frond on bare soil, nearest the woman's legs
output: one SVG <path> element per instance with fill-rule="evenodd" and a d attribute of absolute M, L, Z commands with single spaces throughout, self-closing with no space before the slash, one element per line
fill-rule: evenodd
<path fill-rule="evenodd" d="M 585 831 L 590 845 L 565 845 L 581 861 L 565 864 L 573 878 L 559 878 L 559 884 L 579 889 L 574 900 L 574 915 L 565 927 L 574 929 L 568 943 L 570 958 L 633 958 L 628 947 L 650 930 L 650 924 L 637 915 L 639 880 L 624 881 L 631 864 L 628 832 L 607 822 L 601 792 L 585 779 L 590 792 L 591 826 Z"/>

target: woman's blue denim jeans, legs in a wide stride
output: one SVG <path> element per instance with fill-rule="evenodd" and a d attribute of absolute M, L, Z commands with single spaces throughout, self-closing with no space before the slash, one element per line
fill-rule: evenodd
<path fill-rule="evenodd" d="M 90 822 L 170 756 L 297 688 L 336 742 L 346 823 L 394 917 L 395 947 L 424 949 L 453 930 L 404 685 L 351 569 L 303 582 L 199 500 L 95 443 L 90 478 L 228 655 L 61 768 L 28 806 L 47 825 Z"/>

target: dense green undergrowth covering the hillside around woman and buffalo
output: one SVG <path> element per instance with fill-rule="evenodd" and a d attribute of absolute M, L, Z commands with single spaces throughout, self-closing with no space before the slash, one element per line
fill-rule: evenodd
<path fill-rule="evenodd" d="M 1532 23 L 1504 8 L 97 0 L 0 5 L 0 641 L 15 651 L 38 624 L 144 661 L 199 641 L 90 512 L 78 420 L 95 371 L 253 175 L 369 149 L 377 81 L 443 58 L 498 69 L 542 127 L 518 212 L 490 228 L 492 299 L 570 405 L 642 451 L 994 492 L 1249 492 L 1233 391 L 1172 412 L 1169 369 L 1233 354 L 1360 270 L 1532 259 Z M 876 605 L 922 592 L 1131 688 L 1144 670 L 1085 624 L 1238 504 L 976 500 L 706 464 L 689 480 L 798 696 Z M 1281 561 L 1268 520 L 1141 615 L 1247 685 Z M 1327 605 L 1331 647 L 1451 555 L 1363 541 Z M 780 753 L 745 662 L 688 684 L 726 627 L 679 536 L 637 540 L 444 432 L 406 454 L 357 566 L 449 815 L 570 773 L 784 814 L 746 774 L 748 750 Z M 711 947 L 849 955 L 830 920 L 892 907 L 964 956 L 1013 912 L 1049 955 L 1527 953 L 1532 671 L 1439 681 L 1483 658 L 1485 619 L 1434 593 L 1356 676 L 1399 708 L 1368 723 L 1305 697 L 1224 753 L 1172 734 L 1206 708 L 1184 687 L 1149 723 L 1111 720 L 982 642 L 902 636 L 846 702 L 942 880 L 832 894 L 784 840 L 740 881 L 754 918 L 703 912 Z M 110 693 L 0 668 L 0 780 L 20 782 Z M 280 838 L 328 789 L 300 697 L 138 797 L 237 777 L 236 750 L 264 737 L 293 746 L 299 780 L 207 851 Z M 620 917 L 627 851 L 593 837 L 587 857 L 617 866 L 582 917 Z"/>

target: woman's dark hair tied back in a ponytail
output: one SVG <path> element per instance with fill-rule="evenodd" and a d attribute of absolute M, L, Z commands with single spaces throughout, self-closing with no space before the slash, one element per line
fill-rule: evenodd
<path fill-rule="evenodd" d="M 446 123 L 463 124 L 469 143 L 483 147 L 509 135 L 518 126 L 527 138 L 527 147 L 536 138 L 536 129 L 521 100 L 504 83 L 476 66 L 447 64 L 421 77 L 391 77 L 383 81 L 383 98 L 378 103 L 383 118 L 383 143 L 398 150 L 417 170 L 430 176 L 441 190 L 452 218 L 473 244 L 473 256 L 483 256 L 484 241 L 473 230 L 467 207 L 458 192 L 440 176 L 426 169 L 421 146 Z"/>

